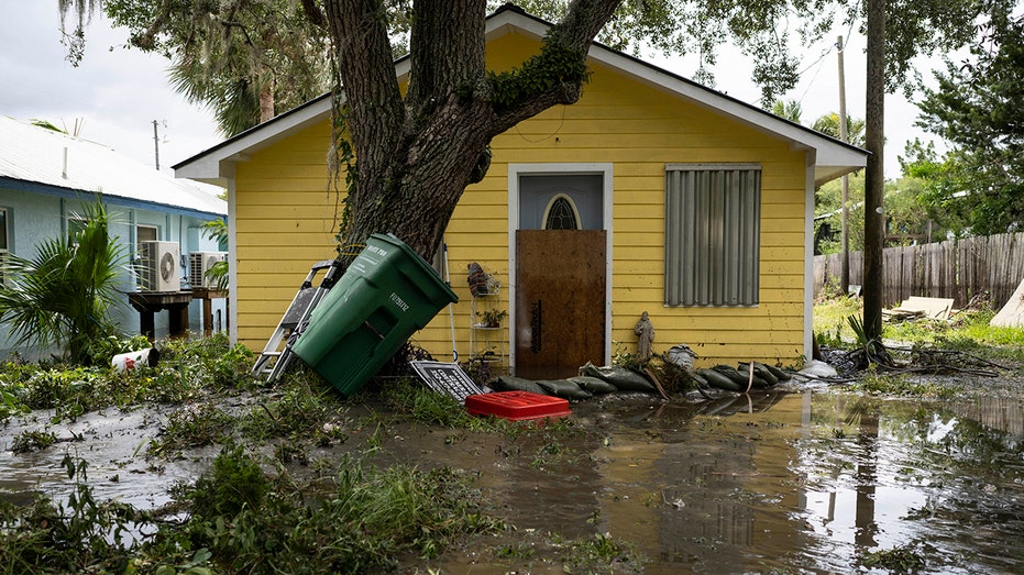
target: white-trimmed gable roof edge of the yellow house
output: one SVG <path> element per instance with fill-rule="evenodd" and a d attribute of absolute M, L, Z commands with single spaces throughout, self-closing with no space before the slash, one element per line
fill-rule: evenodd
<path fill-rule="evenodd" d="M 505 34 L 519 33 L 540 40 L 550 27 L 549 22 L 528 14 L 516 5 L 505 4 L 488 16 L 486 38 L 489 42 Z M 592 63 L 599 63 L 713 113 L 726 115 L 755 130 L 786 141 L 794 150 L 806 151 L 808 165 L 814 165 L 816 186 L 867 165 L 868 152 L 865 150 L 791 122 L 597 42 L 591 44 L 587 58 Z M 409 68 L 410 63 L 407 56 L 395 63 L 395 73 L 398 77 L 407 75 Z M 235 162 L 244 162 L 253 152 L 320 122 L 330 113 L 331 98 L 330 93 L 326 93 L 200 152 L 173 168 L 179 177 L 201 181 L 221 181 L 233 176 Z"/>

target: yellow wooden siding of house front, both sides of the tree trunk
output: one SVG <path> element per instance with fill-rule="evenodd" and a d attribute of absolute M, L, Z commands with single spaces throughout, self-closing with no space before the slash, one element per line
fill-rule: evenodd
<path fill-rule="evenodd" d="M 488 46 L 488 63 L 507 69 L 537 45 L 510 34 Z M 498 54 L 500 57 L 495 57 Z M 326 190 L 329 123 L 253 154 L 238 166 L 239 336 L 262 349 L 298 281 L 333 255 L 335 198 Z M 756 358 L 789 363 L 803 350 L 805 155 L 759 130 L 714 115 L 674 96 L 593 67 L 576 104 L 555 107 L 494 139 L 487 177 L 456 207 L 445 240 L 455 347 L 469 350 L 471 298 L 466 266 L 477 262 L 503 281 L 508 302 L 508 164 L 613 164 L 613 345 L 636 350 L 642 311 L 654 323 L 656 352 L 691 345 L 700 364 Z M 665 164 L 756 163 L 762 169 L 760 305 L 668 308 L 663 298 Z M 506 333 L 506 336 L 508 334 Z M 451 358 L 452 320 L 442 309 L 414 339 Z"/>

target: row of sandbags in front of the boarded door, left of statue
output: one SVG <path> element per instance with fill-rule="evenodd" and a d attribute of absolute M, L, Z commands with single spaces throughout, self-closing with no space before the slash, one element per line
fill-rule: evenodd
<path fill-rule="evenodd" d="M 587 399 L 597 395 L 616 391 L 643 391 L 657 394 L 658 388 L 643 374 L 610 365 L 597 367 L 587 362 L 580 368 L 580 375 L 565 379 L 526 379 L 503 375 L 492 384 L 498 391 L 532 391 L 563 399 Z"/>

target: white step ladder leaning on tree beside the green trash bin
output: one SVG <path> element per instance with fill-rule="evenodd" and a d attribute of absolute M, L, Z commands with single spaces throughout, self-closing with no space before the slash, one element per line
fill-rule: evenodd
<path fill-rule="evenodd" d="M 313 287 L 313 278 L 324 269 L 327 272 L 323 274 L 323 279 L 320 280 L 318 286 Z M 323 296 L 334 287 L 334 283 L 338 281 L 338 273 L 339 263 L 337 259 L 324 259 L 313 264 L 295 298 L 291 299 L 291 305 L 288 306 L 287 311 L 285 311 L 277 324 L 277 329 L 274 330 L 273 335 L 263 347 L 263 352 L 260 353 L 260 357 L 256 358 L 252 375 L 256 377 L 265 375 L 267 376 L 266 382 L 273 384 L 285 373 L 295 355 L 291 352 L 291 345 L 306 330 L 312 310 L 317 308 Z M 282 349 L 282 343 L 284 343 L 284 349 Z"/>

